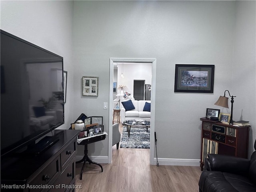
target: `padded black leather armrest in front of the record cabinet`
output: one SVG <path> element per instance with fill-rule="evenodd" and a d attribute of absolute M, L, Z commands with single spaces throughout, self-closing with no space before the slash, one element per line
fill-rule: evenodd
<path fill-rule="evenodd" d="M 235 174 L 248 174 L 250 160 L 234 156 L 207 154 L 208 160 L 205 161 L 205 168 L 212 171 L 222 171 Z"/>

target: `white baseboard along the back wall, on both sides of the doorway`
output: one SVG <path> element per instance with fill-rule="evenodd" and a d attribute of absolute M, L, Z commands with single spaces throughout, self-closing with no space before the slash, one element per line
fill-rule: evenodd
<path fill-rule="evenodd" d="M 76 161 L 79 161 L 83 156 L 76 156 Z M 92 161 L 97 163 L 108 163 L 108 156 L 89 156 Z M 154 158 L 156 165 L 156 158 Z M 159 165 L 177 165 L 177 166 L 200 166 L 200 159 L 176 159 L 176 158 L 158 158 Z"/>

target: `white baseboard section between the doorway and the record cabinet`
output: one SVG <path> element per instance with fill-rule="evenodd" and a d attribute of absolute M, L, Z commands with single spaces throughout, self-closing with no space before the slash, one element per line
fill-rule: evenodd
<path fill-rule="evenodd" d="M 156 164 L 154 158 L 154 164 Z M 171 159 L 171 158 L 158 158 L 159 165 L 177 165 L 177 166 L 200 166 L 200 159 Z"/>

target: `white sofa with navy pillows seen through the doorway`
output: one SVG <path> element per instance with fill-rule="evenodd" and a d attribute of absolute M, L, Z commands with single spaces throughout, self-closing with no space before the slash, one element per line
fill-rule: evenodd
<path fill-rule="evenodd" d="M 143 119 L 150 121 L 150 112 L 143 111 L 145 103 L 150 103 L 150 100 L 131 100 L 135 109 L 125 111 L 125 108 L 122 107 L 120 110 L 121 122 L 123 123 L 126 120 L 134 119 Z"/>

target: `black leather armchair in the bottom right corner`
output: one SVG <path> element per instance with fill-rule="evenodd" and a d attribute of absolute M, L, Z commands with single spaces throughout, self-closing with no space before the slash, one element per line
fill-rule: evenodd
<path fill-rule="evenodd" d="M 200 192 L 256 192 L 256 151 L 250 159 L 220 154 L 207 156 L 198 183 Z"/>

